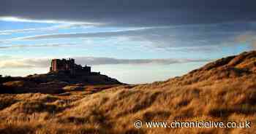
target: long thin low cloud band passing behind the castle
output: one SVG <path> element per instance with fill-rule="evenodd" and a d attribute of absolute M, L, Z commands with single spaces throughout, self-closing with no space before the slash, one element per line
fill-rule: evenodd
<path fill-rule="evenodd" d="M 206 62 L 208 59 L 116 59 L 116 58 L 96 58 L 77 57 L 76 63 L 89 66 L 113 65 L 113 64 L 155 64 L 169 65 L 173 63 Z M 49 58 L 29 58 L 29 59 L 8 59 L 0 60 L 0 68 L 47 68 L 50 66 Z"/>

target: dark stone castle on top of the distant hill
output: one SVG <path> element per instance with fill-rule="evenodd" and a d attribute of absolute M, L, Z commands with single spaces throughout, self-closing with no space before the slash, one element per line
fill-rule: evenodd
<path fill-rule="evenodd" d="M 50 63 L 50 73 L 66 73 L 72 75 L 97 75 L 99 72 L 91 72 L 91 66 L 75 64 L 75 59 L 53 59 Z"/>

